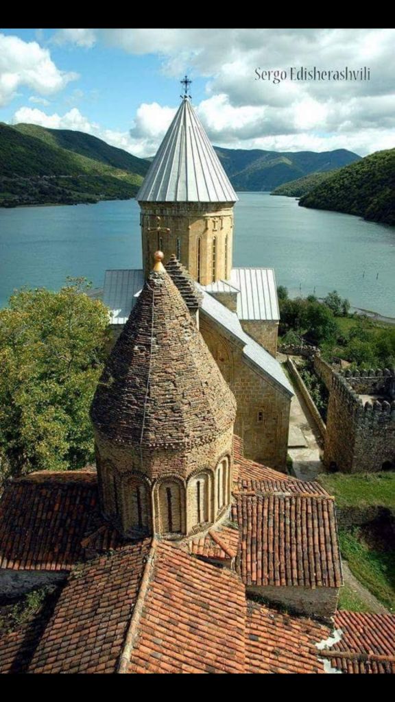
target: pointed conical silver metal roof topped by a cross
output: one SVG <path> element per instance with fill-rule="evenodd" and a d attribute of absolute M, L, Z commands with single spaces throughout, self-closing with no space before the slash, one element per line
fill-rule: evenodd
<path fill-rule="evenodd" d="M 181 102 L 136 199 L 139 202 L 238 200 L 188 98 Z"/>

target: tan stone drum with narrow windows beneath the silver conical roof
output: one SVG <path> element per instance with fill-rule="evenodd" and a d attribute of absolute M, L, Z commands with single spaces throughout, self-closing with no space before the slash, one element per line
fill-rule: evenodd
<path fill-rule="evenodd" d="M 233 256 L 233 204 L 231 203 L 148 203 L 141 202 L 143 268 L 148 277 L 153 254 L 158 249 L 164 260 L 175 254 L 197 280 L 197 242 L 201 241 L 200 283 L 213 281 L 213 239 L 216 238 L 215 280 L 231 277 Z M 157 231 L 160 227 L 163 231 Z M 179 246 L 177 244 L 179 240 Z M 227 241 L 227 251 L 226 251 Z"/>

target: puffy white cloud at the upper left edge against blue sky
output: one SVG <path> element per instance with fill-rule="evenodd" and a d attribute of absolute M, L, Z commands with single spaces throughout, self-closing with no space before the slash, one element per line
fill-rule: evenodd
<path fill-rule="evenodd" d="M 58 69 L 48 49 L 37 41 L 0 34 L 0 107 L 15 97 L 20 86 L 39 95 L 52 95 L 77 77 L 77 73 Z"/>

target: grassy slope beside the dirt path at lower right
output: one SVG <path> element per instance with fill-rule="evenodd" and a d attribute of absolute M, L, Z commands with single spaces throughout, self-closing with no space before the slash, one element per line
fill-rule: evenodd
<path fill-rule="evenodd" d="M 362 585 L 395 612 L 395 551 L 370 548 L 361 529 L 339 529 L 342 557 Z M 350 597 L 346 595 L 345 597 Z M 345 607 L 344 602 L 342 605 Z M 359 610 L 361 611 L 361 610 Z"/>

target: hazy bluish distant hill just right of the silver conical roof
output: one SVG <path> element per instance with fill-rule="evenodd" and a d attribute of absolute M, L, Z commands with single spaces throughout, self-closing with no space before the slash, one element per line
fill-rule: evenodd
<path fill-rule="evenodd" d="M 215 147 L 235 190 L 273 190 L 290 180 L 310 173 L 323 173 L 361 159 L 357 154 L 338 149 L 316 153 L 285 152 L 259 149 L 222 149 Z"/>

